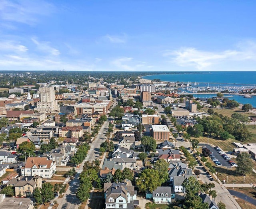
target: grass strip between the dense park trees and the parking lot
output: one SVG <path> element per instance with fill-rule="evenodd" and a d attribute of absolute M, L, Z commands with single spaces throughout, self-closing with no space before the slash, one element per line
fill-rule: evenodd
<path fill-rule="evenodd" d="M 192 137 L 192 139 L 193 138 L 194 137 Z M 205 137 L 205 136 L 201 136 L 195 139 L 199 140 L 200 143 L 205 143 L 205 144 L 208 143 L 208 137 Z M 234 144 L 232 144 L 233 142 L 240 142 L 240 141 L 235 139 L 228 139 L 224 141 L 224 140 L 209 137 L 209 144 L 213 144 L 214 146 L 219 146 L 224 151 L 229 151 L 229 152 L 232 151 L 233 148 L 235 148 Z"/>

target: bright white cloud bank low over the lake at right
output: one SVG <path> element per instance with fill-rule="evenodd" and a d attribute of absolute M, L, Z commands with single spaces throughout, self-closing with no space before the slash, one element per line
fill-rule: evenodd
<path fill-rule="evenodd" d="M 169 57 L 171 62 L 182 67 L 194 66 L 204 69 L 217 63 L 228 61 L 256 60 L 256 43 L 253 41 L 241 42 L 237 49 L 225 51 L 201 51 L 196 48 L 181 47 L 178 50 L 166 50 L 162 53 Z"/>

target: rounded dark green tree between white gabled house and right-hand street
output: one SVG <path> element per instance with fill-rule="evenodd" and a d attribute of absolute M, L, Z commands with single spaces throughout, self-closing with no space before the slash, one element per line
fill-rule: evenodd
<path fill-rule="evenodd" d="M 197 181 L 196 177 L 190 176 L 185 179 L 182 183 L 185 191 L 185 199 L 192 199 L 200 189 L 200 183 Z"/>

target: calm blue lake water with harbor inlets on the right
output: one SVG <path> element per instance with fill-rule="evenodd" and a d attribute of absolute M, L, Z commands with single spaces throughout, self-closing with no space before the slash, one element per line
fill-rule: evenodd
<path fill-rule="evenodd" d="M 246 85 L 255 85 L 256 88 L 256 71 L 235 71 L 235 72 L 196 72 L 196 73 L 175 73 L 175 74 L 162 74 L 162 75 L 148 75 L 144 76 L 144 79 L 160 79 L 161 81 L 170 81 L 170 82 L 191 82 L 191 83 L 200 83 L 199 86 L 246 86 Z M 191 93 L 192 94 L 192 93 Z M 194 97 L 213 97 L 216 94 L 193 94 Z M 253 107 L 256 107 L 256 96 L 253 98 L 244 98 L 239 95 L 225 95 L 233 96 L 228 99 L 234 99 L 241 104 L 252 104 Z"/>

